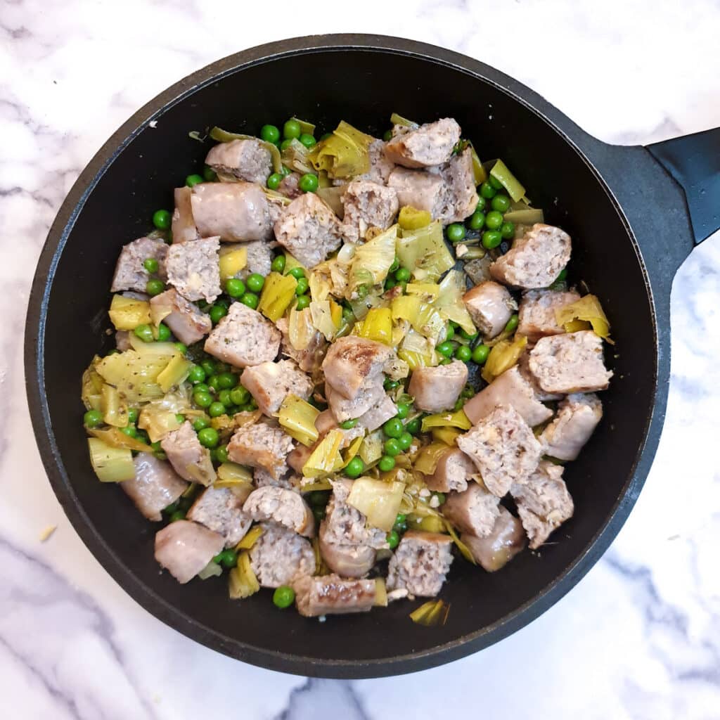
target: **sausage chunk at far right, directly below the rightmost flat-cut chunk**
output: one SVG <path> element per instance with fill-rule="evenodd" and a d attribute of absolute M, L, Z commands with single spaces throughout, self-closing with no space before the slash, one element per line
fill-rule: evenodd
<path fill-rule="evenodd" d="M 557 406 L 557 416 L 540 436 L 545 454 L 575 460 L 603 417 L 597 395 L 568 395 Z"/>

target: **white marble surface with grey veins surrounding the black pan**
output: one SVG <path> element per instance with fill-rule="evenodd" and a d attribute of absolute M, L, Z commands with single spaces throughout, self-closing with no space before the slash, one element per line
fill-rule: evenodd
<path fill-rule="evenodd" d="M 405 35 L 494 64 L 603 140 L 637 143 L 720 125 L 719 30 L 712 0 L 0 2 L 0 716 L 720 717 L 720 236 L 675 280 L 665 432 L 609 552 L 510 639 L 402 678 L 241 665 L 127 598 L 50 490 L 21 343 L 35 261 L 81 168 L 141 104 L 212 60 L 316 32 Z"/>

